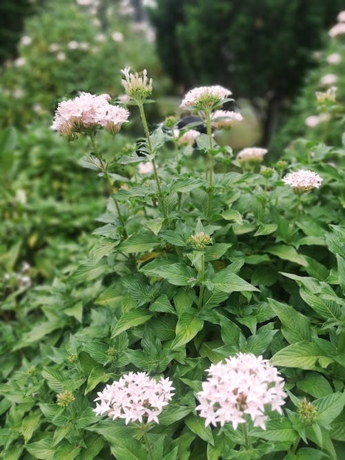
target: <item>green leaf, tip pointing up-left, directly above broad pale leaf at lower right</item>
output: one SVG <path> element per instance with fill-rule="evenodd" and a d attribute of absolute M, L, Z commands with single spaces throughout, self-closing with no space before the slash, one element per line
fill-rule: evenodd
<path fill-rule="evenodd" d="M 282 334 L 289 343 L 311 341 L 311 321 L 293 307 L 268 299 L 270 308 L 282 322 Z"/>

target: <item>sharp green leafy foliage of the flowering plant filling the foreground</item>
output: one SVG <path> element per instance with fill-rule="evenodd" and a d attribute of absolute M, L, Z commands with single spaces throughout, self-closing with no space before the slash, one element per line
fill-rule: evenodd
<path fill-rule="evenodd" d="M 80 166 L 108 184 L 91 250 L 54 281 L 4 295 L 0 458 L 344 457 L 344 170 L 326 163 L 343 149 L 310 142 L 314 157 L 299 150 L 259 170 L 215 143 L 210 108 L 207 134 L 180 147 L 173 127 L 150 132 L 133 102 L 146 134 L 137 146 L 114 148 L 101 132 L 69 144 L 86 148 Z M 143 160 L 151 173 L 138 174 Z M 282 174 L 299 168 L 322 186 L 295 194 Z M 265 431 L 211 429 L 195 412 L 205 370 L 237 352 L 270 359 L 286 381 L 284 413 L 268 412 Z M 130 371 L 172 380 L 158 424 L 92 411 L 97 391 Z"/>

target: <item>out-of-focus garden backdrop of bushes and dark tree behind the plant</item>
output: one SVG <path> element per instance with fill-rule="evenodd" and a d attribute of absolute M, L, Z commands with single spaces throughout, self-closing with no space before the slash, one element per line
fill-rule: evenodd
<path fill-rule="evenodd" d="M 121 97 L 125 66 L 154 80 L 152 127 L 182 116 L 190 88 L 220 84 L 244 120 L 217 132 L 219 143 L 268 147 L 268 161 L 297 137 L 342 146 L 344 117 L 330 123 L 315 98 L 336 86 L 345 100 L 342 9 L 345 0 L 1 0 L 0 268 L 25 259 L 49 278 L 88 245 L 103 185 L 77 164 L 85 139 L 68 143 L 50 125 L 57 103 L 81 91 Z M 132 151 L 136 117 L 102 134 L 104 151 Z"/>

